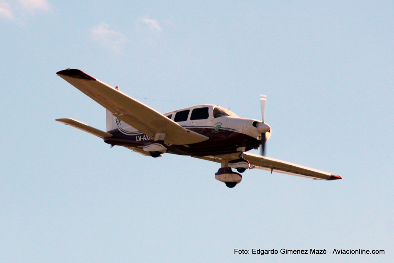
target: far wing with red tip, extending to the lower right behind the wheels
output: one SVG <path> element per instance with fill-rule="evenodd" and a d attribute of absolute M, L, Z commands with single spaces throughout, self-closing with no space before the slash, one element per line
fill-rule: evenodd
<path fill-rule="evenodd" d="M 196 156 L 193 156 L 196 157 Z M 210 160 L 213 162 L 222 162 L 239 159 L 239 153 L 232 153 L 227 155 L 216 155 L 216 156 L 203 156 L 196 157 L 199 159 Z M 298 164 L 292 164 L 282 160 L 269 158 L 266 156 L 256 155 L 253 153 L 243 153 L 243 158 L 248 160 L 252 168 L 267 170 L 276 173 L 286 173 L 290 175 L 297 175 L 301 177 L 320 179 L 320 180 L 336 180 L 342 179 L 341 176 L 332 173 L 323 172 L 320 170 L 308 168 Z"/>

